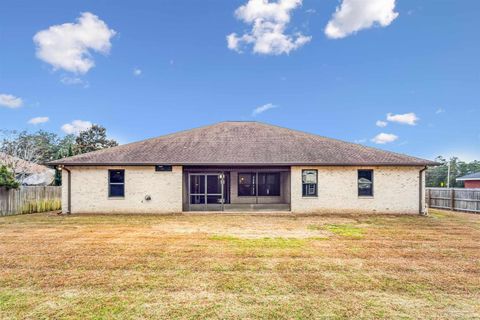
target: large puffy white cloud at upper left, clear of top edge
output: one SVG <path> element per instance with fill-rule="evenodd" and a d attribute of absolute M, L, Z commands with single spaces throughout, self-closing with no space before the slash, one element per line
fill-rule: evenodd
<path fill-rule="evenodd" d="M 33 41 L 37 57 L 55 70 L 83 74 L 95 65 L 91 51 L 107 54 L 112 46 L 110 39 L 115 34 L 96 15 L 84 12 L 77 23 L 51 26 L 35 34 Z"/>

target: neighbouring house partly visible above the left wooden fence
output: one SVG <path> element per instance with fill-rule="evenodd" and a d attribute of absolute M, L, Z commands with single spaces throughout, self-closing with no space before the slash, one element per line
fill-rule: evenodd
<path fill-rule="evenodd" d="M 21 185 L 48 186 L 55 179 L 55 170 L 2 152 L 0 152 L 0 165 L 12 169 Z"/>

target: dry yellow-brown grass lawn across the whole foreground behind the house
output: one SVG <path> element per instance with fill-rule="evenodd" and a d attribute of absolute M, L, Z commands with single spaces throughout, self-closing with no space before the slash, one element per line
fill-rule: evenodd
<path fill-rule="evenodd" d="M 480 318 L 480 215 L 3 217 L 16 318 Z"/>

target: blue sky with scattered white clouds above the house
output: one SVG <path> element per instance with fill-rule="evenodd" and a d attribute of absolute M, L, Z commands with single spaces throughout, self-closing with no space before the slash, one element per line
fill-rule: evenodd
<path fill-rule="evenodd" d="M 0 129 L 261 121 L 480 160 L 480 1 L 0 2 Z"/>

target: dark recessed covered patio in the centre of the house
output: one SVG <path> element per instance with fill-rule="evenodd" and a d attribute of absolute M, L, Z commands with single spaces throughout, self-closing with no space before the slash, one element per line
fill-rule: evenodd
<path fill-rule="evenodd" d="M 288 166 L 185 166 L 184 211 L 290 211 Z"/>

